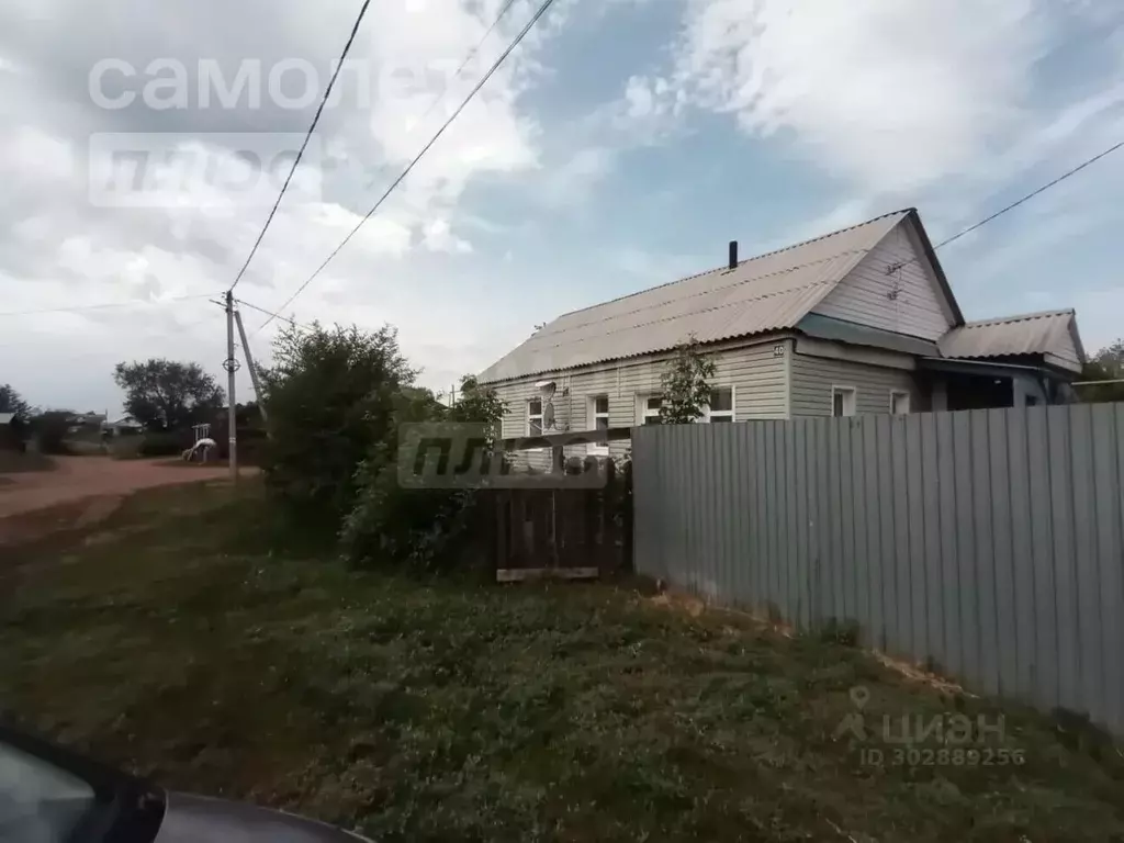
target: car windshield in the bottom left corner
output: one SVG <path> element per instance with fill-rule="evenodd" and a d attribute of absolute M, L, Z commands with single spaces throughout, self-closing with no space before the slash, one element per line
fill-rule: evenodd
<path fill-rule="evenodd" d="M 0 743 L 0 841 L 63 843 L 96 801 L 82 779 Z"/>

